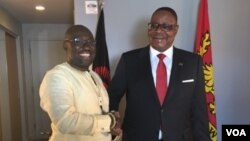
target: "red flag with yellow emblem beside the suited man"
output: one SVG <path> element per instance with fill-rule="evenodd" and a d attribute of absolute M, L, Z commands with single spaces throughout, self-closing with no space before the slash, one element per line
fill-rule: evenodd
<path fill-rule="evenodd" d="M 204 89 L 206 92 L 208 106 L 210 138 L 211 141 L 217 141 L 214 76 L 207 0 L 200 1 L 195 52 L 203 59 L 203 71 L 205 78 Z"/>

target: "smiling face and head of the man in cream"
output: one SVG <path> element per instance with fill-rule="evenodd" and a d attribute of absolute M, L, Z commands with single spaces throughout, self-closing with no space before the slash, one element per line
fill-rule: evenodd
<path fill-rule="evenodd" d="M 79 38 L 84 41 L 94 41 L 94 37 L 89 29 L 81 25 L 72 26 L 66 31 L 64 38 L 64 48 L 67 53 L 67 62 L 74 68 L 87 71 L 93 63 L 96 55 L 95 45 L 76 45 L 69 41 Z"/>

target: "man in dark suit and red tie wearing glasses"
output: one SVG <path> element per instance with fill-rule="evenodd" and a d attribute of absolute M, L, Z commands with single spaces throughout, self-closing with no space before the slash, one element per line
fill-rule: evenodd
<path fill-rule="evenodd" d="M 161 7 L 148 24 L 149 45 L 121 56 L 108 92 L 116 111 L 126 94 L 123 141 L 210 140 L 202 61 L 173 46 L 178 28 L 176 12 Z M 164 77 L 158 77 L 158 54 L 166 56 Z M 158 98 L 161 78 L 167 84 Z"/>

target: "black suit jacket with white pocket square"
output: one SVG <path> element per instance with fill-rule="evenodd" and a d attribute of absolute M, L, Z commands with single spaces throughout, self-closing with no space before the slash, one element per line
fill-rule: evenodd
<path fill-rule="evenodd" d="M 167 96 L 160 105 L 151 72 L 149 46 L 122 54 L 109 86 L 110 110 L 126 94 L 123 141 L 209 141 L 201 58 L 174 47 Z M 193 81 L 192 81 L 193 80 Z"/>

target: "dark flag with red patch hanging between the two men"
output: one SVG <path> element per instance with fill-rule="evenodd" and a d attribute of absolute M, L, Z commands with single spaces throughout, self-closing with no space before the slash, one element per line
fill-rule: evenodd
<path fill-rule="evenodd" d="M 110 68 L 108 48 L 105 35 L 104 12 L 101 9 L 96 30 L 96 57 L 92 69 L 99 74 L 104 86 L 108 88 L 110 83 Z"/>

